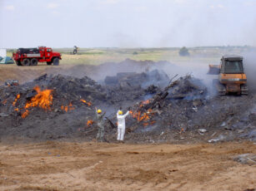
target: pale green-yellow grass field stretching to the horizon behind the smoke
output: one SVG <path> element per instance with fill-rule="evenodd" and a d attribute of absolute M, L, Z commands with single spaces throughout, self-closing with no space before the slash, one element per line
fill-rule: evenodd
<path fill-rule="evenodd" d="M 212 63 L 220 56 L 228 53 L 240 54 L 247 51 L 247 47 L 193 47 L 188 48 L 190 56 L 179 56 L 180 48 L 80 48 L 78 55 L 73 55 L 72 48 L 55 48 L 63 54 L 62 65 L 90 64 L 99 65 L 104 62 L 119 62 L 127 58 L 137 61 L 170 61 L 173 63 Z M 8 56 L 12 52 L 8 51 Z"/>

